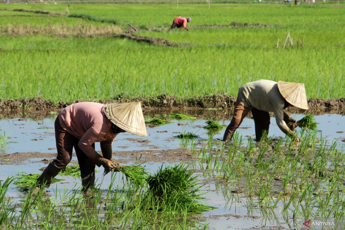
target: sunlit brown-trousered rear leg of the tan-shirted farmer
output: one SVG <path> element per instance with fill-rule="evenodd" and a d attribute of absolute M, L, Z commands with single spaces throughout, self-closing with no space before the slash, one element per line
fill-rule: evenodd
<path fill-rule="evenodd" d="M 223 141 L 229 141 L 233 138 L 235 130 L 240 126 L 243 121 L 243 118 L 247 115 L 250 111 L 250 108 L 245 108 L 239 101 L 236 101 L 235 108 L 234 108 L 234 116 L 231 119 L 230 124 L 225 130 Z"/>

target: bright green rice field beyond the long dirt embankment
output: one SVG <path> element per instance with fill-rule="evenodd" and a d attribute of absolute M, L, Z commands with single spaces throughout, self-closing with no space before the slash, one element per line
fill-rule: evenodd
<path fill-rule="evenodd" d="M 304 82 L 308 98 L 343 97 L 344 6 L 211 3 L 209 9 L 206 3 L 182 1 L 177 9 L 171 1 L 70 3 L 69 14 L 56 16 L 11 10 L 65 13 L 67 3 L 1 4 L 0 98 L 59 102 L 98 101 L 119 94 L 237 96 L 240 86 L 257 79 Z M 71 14 L 90 17 L 68 17 Z M 192 18 L 190 30 L 167 32 L 179 15 Z M 226 26 L 232 22 L 267 26 Z M 137 29 L 134 35 L 181 46 L 109 37 L 128 32 L 127 24 Z M 282 47 L 288 32 L 294 48 Z M 298 48 L 297 38 L 304 40 Z"/>

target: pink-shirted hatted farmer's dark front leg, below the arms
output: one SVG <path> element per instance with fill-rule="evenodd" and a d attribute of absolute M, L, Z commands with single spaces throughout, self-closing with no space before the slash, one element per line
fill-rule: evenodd
<path fill-rule="evenodd" d="M 93 149 L 95 149 L 95 143 L 92 144 Z M 85 153 L 78 147 L 78 141 L 74 145 L 76 150 L 80 174 L 81 174 L 81 184 L 82 190 L 86 191 L 88 188 L 95 184 L 95 167 L 96 164 L 93 163 L 90 158 L 88 158 Z"/>

